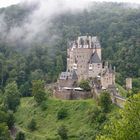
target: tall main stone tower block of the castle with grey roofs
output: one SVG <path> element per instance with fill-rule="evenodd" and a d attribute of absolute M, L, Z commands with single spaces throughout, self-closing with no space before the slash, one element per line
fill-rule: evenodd
<path fill-rule="evenodd" d="M 67 71 L 75 70 L 79 79 L 101 73 L 101 45 L 97 37 L 81 36 L 67 49 Z"/>

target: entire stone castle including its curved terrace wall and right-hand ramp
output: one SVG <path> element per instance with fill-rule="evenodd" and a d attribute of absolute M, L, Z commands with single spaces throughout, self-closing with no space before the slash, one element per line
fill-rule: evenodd
<path fill-rule="evenodd" d="M 81 80 L 90 82 L 91 91 L 78 87 Z M 60 99 L 86 99 L 108 90 L 112 102 L 123 106 L 122 98 L 115 87 L 115 68 L 102 60 L 102 48 L 97 36 L 80 36 L 69 42 L 67 70 L 58 78 L 54 96 Z"/>

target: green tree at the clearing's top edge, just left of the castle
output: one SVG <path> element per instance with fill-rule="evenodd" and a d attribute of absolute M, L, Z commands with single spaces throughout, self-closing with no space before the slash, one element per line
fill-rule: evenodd
<path fill-rule="evenodd" d="M 32 93 L 38 104 L 46 99 L 44 86 L 44 81 L 42 80 L 35 80 L 32 82 Z"/>

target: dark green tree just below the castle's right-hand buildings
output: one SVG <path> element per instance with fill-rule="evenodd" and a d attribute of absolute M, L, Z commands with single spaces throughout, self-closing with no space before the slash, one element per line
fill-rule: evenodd
<path fill-rule="evenodd" d="M 110 111 L 111 103 L 110 93 L 102 92 L 99 98 L 99 105 L 101 106 L 103 112 L 107 113 Z"/>

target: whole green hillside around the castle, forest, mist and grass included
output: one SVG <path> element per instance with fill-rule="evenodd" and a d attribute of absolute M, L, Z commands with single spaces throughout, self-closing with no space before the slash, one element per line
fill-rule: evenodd
<path fill-rule="evenodd" d="M 140 92 L 140 6 L 90 3 L 61 12 L 48 6 L 48 13 L 38 8 L 24 3 L 0 9 L 0 140 L 140 139 L 139 94 L 126 93 L 130 98 L 121 110 L 106 92 L 96 101 L 70 102 L 44 88 L 66 69 L 68 42 L 87 34 L 99 37 L 122 94 L 127 91 L 119 84 L 126 77 L 134 78 L 132 93 Z"/>

